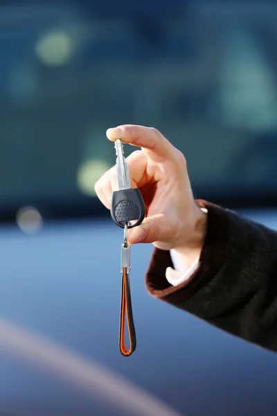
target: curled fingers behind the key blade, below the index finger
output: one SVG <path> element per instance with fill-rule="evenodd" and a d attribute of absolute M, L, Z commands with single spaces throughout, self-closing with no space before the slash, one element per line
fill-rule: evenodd
<path fill-rule="evenodd" d="M 129 177 L 132 188 L 142 187 L 145 183 L 145 168 L 147 165 L 147 157 L 141 150 L 136 150 L 126 158 L 129 169 Z M 94 190 L 106 208 L 111 207 L 111 193 L 118 190 L 118 182 L 116 176 L 116 166 L 109 169 L 96 182 Z"/>

